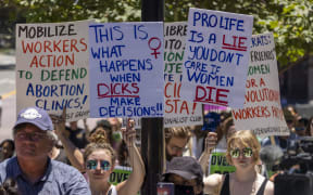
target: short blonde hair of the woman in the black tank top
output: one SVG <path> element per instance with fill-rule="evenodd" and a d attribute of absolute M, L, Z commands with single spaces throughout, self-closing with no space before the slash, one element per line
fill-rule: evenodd
<path fill-rule="evenodd" d="M 226 151 L 226 159 L 229 165 L 233 165 L 230 150 L 234 148 L 235 145 L 242 145 L 245 147 L 250 147 L 253 152 L 252 159 L 253 162 L 256 162 L 260 157 L 261 145 L 255 136 L 255 134 L 250 130 L 241 130 L 236 131 L 227 141 L 227 151 Z"/>

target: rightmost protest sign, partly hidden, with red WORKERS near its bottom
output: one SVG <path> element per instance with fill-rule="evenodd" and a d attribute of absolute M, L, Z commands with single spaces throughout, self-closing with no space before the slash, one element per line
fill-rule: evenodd
<path fill-rule="evenodd" d="M 236 129 L 251 129 L 258 136 L 288 135 L 273 35 L 255 35 L 251 40 L 245 106 L 231 110 Z"/>

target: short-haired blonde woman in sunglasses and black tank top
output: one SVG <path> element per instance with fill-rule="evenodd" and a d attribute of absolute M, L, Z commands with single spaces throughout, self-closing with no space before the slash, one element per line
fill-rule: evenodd
<path fill-rule="evenodd" d="M 274 184 L 258 173 L 260 143 L 250 130 L 236 131 L 227 141 L 226 159 L 236 167 L 229 174 L 204 178 L 204 193 L 215 195 L 273 195 Z"/>

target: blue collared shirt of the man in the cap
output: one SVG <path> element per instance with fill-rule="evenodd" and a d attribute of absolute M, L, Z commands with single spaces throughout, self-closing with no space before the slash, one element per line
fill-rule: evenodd
<path fill-rule="evenodd" d="M 0 164 L 0 182 L 3 183 L 7 178 L 17 182 L 18 192 L 23 195 L 91 195 L 85 178 L 77 169 L 50 158 L 45 176 L 34 184 L 23 176 L 16 157 Z"/>

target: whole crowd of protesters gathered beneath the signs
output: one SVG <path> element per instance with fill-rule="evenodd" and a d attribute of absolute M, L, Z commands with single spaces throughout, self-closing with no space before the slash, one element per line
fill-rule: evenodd
<path fill-rule="evenodd" d="M 313 117 L 304 118 L 291 107 L 284 109 L 288 136 L 274 136 L 286 151 L 289 142 L 312 136 Z M 216 113 L 215 113 L 216 114 Z M 209 113 L 205 117 L 215 117 Z M 38 107 L 22 109 L 12 128 L 13 140 L 0 143 L 0 194 L 92 194 L 135 195 L 140 192 L 146 169 L 133 120 L 99 119 L 96 127 L 48 115 Z M 66 126 L 67 123 L 67 126 Z M 174 183 L 176 192 L 189 187 L 193 194 L 274 194 L 274 180 L 262 174 L 261 147 L 273 144 L 250 130 L 236 129 L 230 112 L 218 114 L 214 130 L 208 123 L 165 128 L 166 169 L 160 182 Z M 208 130 L 209 129 L 209 130 Z M 140 141 L 139 141 L 140 143 Z M 208 171 L 215 148 L 225 150 L 234 172 Z M 111 184 L 116 166 L 128 167 L 128 179 Z M 264 172 L 264 170 L 263 170 Z M 181 190 L 184 188 L 184 190 Z"/>

